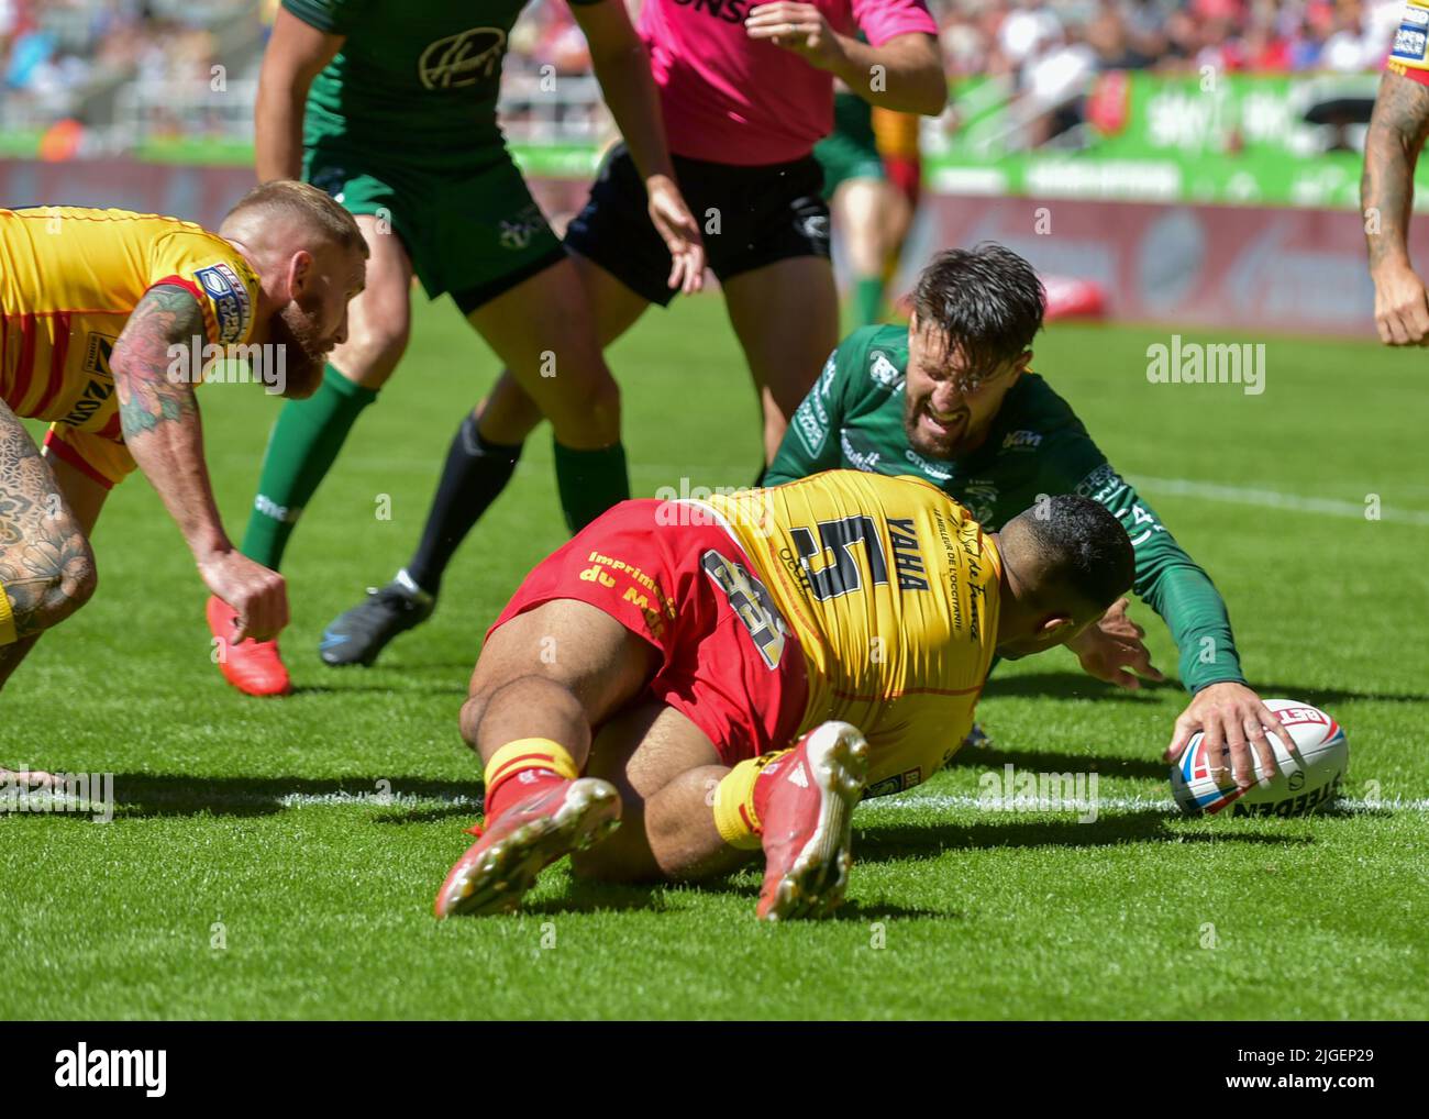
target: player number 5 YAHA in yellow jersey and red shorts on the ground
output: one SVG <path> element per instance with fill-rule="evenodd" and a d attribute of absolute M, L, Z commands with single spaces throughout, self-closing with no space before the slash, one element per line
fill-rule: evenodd
<path fill-rule="evenodd" d="M 1072 494 L 997 534 L 922 479 L 850 470 L 624 502 L 487 632 L 462 709 L 484 832 L 436 913 L 512 909 L 572 852 L 590 877 L 689 880 L 760 850 L 760 917 L 826 913 L 855 803 L 937 772 L 993 655 L 1075 637 L 1133 570 L 1116 517 Z"/>

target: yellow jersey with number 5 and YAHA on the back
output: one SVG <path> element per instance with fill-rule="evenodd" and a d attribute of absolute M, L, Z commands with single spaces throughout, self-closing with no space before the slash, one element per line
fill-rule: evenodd
<path fill-rule="evenodd" d="M 800 733 L 869 739 L 869 796 L 927 780 L 972 729 L 997 640 L 1002 560 L 917 477 L 829 470 L 707 504 L 763 579 L 809 670 Z"/>

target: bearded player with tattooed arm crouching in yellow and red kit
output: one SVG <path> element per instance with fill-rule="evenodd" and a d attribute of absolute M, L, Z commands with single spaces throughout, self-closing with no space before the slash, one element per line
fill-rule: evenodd
<path fill-rule="evenodd" d="M 219 233 L 126 210 L 0 210 L 0 686 L 93 593 L 89 536 L 136 464 L 237 612 L 231 639 L 283 629 L 282 576 L 219 520 L 190 370 L 204 347 L 274 347 L 273 387 L 312 393 L 366 256 L 352 216 L 303 183 L 250 192 Z M 51 422 L 43 454 L 21 417 Z"/>

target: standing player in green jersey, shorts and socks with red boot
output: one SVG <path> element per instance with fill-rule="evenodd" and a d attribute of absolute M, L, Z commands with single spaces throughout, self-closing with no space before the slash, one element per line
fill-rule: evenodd
<path fill-rule="evenodd" d="M 669 250 L 666 282 L 694 290 L 703 246 L 674 184 L 644 46 L 620 0 L 570 4 Z M 277 570 L 357 414 L 402 359 L 413 273 L 430 297 L 452 296 L 550 420 L 570 529 L 630 496 L 620 397 L 584 289 L 496 120 L 502 60 L 523 6 L 283 0 L 259 77 L 259 180 L 302 177 L 326 190 L 356 216 L 372 256 L 347 342 L 317 393 L 284 406 L 269 440 L 243 537 L 243 553 L 264 567 Z M 211 599 L 207 613 L 227 642 L 231 609 Z M 231 645 L 221 667 L 250 695 L 289 690 L 274 642 Z"/>

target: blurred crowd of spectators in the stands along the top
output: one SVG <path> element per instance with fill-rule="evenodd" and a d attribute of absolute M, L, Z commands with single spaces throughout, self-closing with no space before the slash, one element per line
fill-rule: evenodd
<path fill-rule="evenodd" d="M 950 77 L 1005 76 L 1017 96 L 1053 104 L 1077 96 L 1097 73 L 1119 69 L 1373 71 L 1389 51 L 1403 0 L 929 0 L 929 6 L 942 24 Z M 277 0 L 0 0 L 0 89 L 6 99 L 61 109 L 76 90 L 96 83 L 206 83 L 217 60 L 214 29 L 246 20 L 260 44 L 276 7 Z M 564 0 L 533 0 L 512 34 L 509 71 L 547 64 L 557 74 L 589 71 L 584 40 Z"/>

